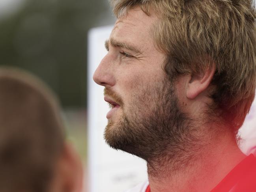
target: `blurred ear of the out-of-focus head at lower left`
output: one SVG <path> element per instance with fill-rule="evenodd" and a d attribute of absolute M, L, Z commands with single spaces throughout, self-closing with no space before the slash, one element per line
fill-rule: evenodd
<path fill-rule="evenodd" d="M 82 192 L 83 169 L 80 158 L 70 144 L 65 144 L 56 165 L 53 192 Z"/>

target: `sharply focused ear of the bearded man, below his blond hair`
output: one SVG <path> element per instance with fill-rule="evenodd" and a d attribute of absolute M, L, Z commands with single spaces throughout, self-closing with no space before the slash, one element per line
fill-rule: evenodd
<path fill-rule="evenodd" d="M 206 90 L 213 79 L 215 65 L 202 71 L 202 73 L 191 75 L 187 83 L 186 96 L 188 99 L 196 98 L 200 93 Z"/>

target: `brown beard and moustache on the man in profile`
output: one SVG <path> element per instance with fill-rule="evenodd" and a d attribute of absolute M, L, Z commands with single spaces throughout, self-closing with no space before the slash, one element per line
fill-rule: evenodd
<path fill-rule="evenodd" d="M 174 83 L 169 80 L 137 88 L 126 111 L 121 97 L 105 88 L 105 94 L 119 101 L 119 121 L 108 121 L 104 138 L 107 144 L 143 158 L 148 163 L 173 158 L 191 140 L 189 117 L 181 112 Z M 168 156 L 168 157 L 167 157 Z M 159 162 L 160 163 L 160 162 Z"/>

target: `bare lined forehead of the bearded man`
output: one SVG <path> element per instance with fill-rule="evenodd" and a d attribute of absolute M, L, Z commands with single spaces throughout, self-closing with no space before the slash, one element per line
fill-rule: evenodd
<path fill-rule="evenodd" d="M 116 41 L 147 47 L 153 44 L 152 29 L 156 20 L 154 13 L 148 16 L 139 7 L 135 7 L 117 19 L 110 37 Z"/>

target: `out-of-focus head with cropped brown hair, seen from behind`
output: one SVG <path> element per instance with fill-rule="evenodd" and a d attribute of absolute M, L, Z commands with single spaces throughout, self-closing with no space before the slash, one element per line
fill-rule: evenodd
<path fill-rule="evenodd" d="M 34 76 L 0 68 L 0 191 L 79 191 L 82 169 L 65 144 L 60 109 Z"/>

